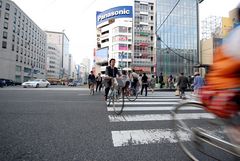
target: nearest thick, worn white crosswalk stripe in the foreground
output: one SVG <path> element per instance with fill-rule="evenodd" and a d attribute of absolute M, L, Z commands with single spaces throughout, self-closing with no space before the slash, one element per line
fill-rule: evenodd
<path fill-rule="evenodd" d="M 190 135 L 187 132 L 179 132 L 182 141 L 189 141 Z M 112 131 L 114 147 L 141 145 L 152 143 L 177 143 L 174 131 L 171 129 L 150 129 L 150 130 L 126 130 Z"/>

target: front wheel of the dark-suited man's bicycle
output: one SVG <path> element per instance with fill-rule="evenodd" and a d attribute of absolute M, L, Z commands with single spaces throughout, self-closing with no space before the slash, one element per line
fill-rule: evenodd
<path fill-rule="evenodd" d="M 120 93 L 115 91 L 113 100 L 114 101 L 112 101 L 113 102 L 112 105 L 113 105 L 114 112 L 117 115 L 120 115 L 123 112 L 123 108 L 124 108 L 124 94 L 123 94 L 123 90 Z"/>

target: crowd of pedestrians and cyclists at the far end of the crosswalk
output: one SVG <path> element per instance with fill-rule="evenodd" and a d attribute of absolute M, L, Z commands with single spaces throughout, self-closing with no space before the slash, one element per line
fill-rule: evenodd
<path fill-rule="evenodd" d="M 154 74 L 140 73 L 137 74 L 134 69 L 126 71 L 119 71 L 115 67 L 116 60 L 111 59 L 109 66 L 106 67 L 104 77 L 101 73 L 97 76 L 93 74 L 93 71 L 89 74 L 88 82 L 89 88 L 94 85 L 95 91 L 101 91 L 105 89 L 105 99 L 107 98 L 108 91 L 111 86 L 110 78 L 120 78 L 124 86 L 131 86 L 136 89 L 141 95 L 147 96 L 148 89 L 154 93 L 155 89 L 176 89 L 179 91 L 180 97 L 184 97 L 184 93 L 187 89 L 191 90 L 194 94 L 199 93 L 199 89 L 205 84 L 205 81 L 199 72 L 195 72 L 193 76 L 184 76 L 184 73 L 180 73 L 179 76 L 173 75 L 164 76 L 160 73 L 159 76 Z"/>

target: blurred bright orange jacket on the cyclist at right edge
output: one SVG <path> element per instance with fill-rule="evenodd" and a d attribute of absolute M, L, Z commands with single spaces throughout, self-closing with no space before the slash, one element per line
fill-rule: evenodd
<path fill-rule="evenodd" d="M 239 88 L 240 60 L 225 54 L 224 46 L 217 48 L 206 80 L 212 89 Z"/>

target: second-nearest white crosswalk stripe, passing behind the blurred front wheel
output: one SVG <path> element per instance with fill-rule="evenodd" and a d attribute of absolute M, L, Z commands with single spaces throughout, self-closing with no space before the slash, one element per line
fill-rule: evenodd
<path fill-rule="evenodd" d="M 109 115 L 110 122 L 126 122 L 126 121 L 170 121 L 173 120 L 171 114 L 142 114 L 142 115 Z M 196 120 L 196 119 L 214 119 L 210 113 L 187 113 L 178 114 L 177 119 Z"/>

